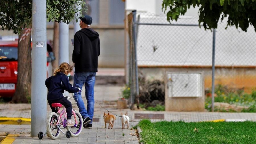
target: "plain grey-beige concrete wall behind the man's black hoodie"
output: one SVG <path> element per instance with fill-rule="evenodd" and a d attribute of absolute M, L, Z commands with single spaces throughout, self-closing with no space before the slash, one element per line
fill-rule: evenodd
<path fill-rule="evenodd" d="M 93 27 L 92 27 L 93 28 Z M 99 67 L 124 68 L 124 28 L 93 28 L 100 34 Z M 69 30 L 69 62 L 72 62 L 74 30 Z M 47 39 L 53 39 L 53 29 L 47 29 Z"/>

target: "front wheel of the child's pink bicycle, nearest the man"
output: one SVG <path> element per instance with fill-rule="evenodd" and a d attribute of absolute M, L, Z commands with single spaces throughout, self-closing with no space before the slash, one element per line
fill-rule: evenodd
<path fill-rule="evenodd" d="M 82 132 L 82 129 L 83 129 L 82 115 L 79 113 L 79 111 L 76 111 L 76 110 L 75 110 L 75 114 L 76 114 L 77 124 L 75 122 L 74 115 L 72 115 L 71 119 L 75 123 L 75 125 L 71 126 L 71 127 L 67 126 L 67 130 L 71 132 L 71 137 L 78 137 L 80 135 L 80 133 Z"/>

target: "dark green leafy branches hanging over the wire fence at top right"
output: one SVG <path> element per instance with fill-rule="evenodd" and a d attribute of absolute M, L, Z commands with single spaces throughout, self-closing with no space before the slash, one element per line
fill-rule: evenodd
<path fill-rule="evenodd" d="M 167 20 L 179 20 L 179 15 L 184 15 L 187 8 L 197 5 L 199 7 L 199 24 L 203 23 L 205 29 L 218 27 L 218 21 L 228 18 L 228 25 L 240 27 L 247 31 L 249 24 L 256 31 L 256 0 L 163 0 L 162 8 L 167 12 Z M 165 12 L 165 11 L 164 11 Z M 221 19 L 220 18 L 221 14 Z"/>

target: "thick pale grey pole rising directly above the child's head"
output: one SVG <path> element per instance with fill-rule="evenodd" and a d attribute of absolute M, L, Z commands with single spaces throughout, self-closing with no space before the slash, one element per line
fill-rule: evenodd
<path fill-rule="evenodd" d="M 69 25 L 66 23 L 59 23 L 59 65 L 62 62 L 69 63 Z M 71 64 L 72 65 L 72 64 Z"/>

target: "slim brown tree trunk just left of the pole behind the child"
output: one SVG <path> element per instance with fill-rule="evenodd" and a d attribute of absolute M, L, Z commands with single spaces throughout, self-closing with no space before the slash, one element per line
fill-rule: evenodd
<path fill-rule="evenodd" d="M 59 23 L 54 22 L 54 33 L 53 33 L 53 50 L 55 60 L 52 61 L 52 74 L 55 69 L 59 68 Z"/>

